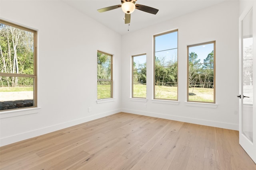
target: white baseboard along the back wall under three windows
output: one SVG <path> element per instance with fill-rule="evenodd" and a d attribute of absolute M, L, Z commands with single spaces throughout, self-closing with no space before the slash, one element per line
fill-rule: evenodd
<path fill-rule="evenodd" d="M 198 125 L 206 125 L 206 126 L 219 127 L 219 128 L 224 128 L 224 129 L 231 129 L 231 130 L 235 130 L 235 131 L 239 130 L 238 124 L 209 121 L 209 120 L 204 120 L 204 119 L 195 119 L 195 118 L 191 118 L 191 117 L 182 117 L 182 116 L 176 116 L 176 115 L 166 115 L 166 114 L 162 114 L 162 113 L 153 113 L 153 112 L 138 111 L 138 110 L 131 110 L 131 109 L 122 109 L 122 112 L 151 116 L 151 117 L 158 117 L 158 118 L 169 119 L 169 120 L 174 120 L 174 121 L 182 121 L 182 122 L 186 122 L 186 123 L 194 123 L 194 124 L 198 124 Z"/>

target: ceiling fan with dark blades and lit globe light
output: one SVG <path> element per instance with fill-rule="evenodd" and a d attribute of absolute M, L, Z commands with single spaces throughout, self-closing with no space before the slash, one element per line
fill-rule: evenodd
<path fill-rule="evenodd" d="M 122 3 L 121 5 L 114 5 L 114 6 L 109 6 L 106 8 L 101 8 L 101 9 L 98 9 L 98 12 L 106 12 L 109 10 L 114 10 L 116 8 L 122 8 L 122 10 L 125 13 L 124 23 L 130 23 L 131 14 L 132 14 L 132 12 L 134 12 L 135 9 L 141 10 L 144 12 L 148 12 L 150 14 L 156 14 L 158 12 L 158 9 L 156 9 L 156 8 L 152 8 L 152 7 L 140 5 L 140 4 L 135 4 L 136 1 L 137 0 L 121 0 L 121 3 Z"/>

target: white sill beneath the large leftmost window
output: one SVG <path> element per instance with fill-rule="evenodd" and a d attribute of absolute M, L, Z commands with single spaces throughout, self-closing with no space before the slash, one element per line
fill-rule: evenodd
<path fill-rule="evenodd" d="M 30 115 L 38 113 L 38 110 L 41 107 L 32 107 L 32 108 L 25 108 L 25 109 L 16 109 L 16 110 L 8 110 L 8 111 L 1 111 L 0 112 L 0 119 L 8 118 L 8 117 L 16 117 L 22 115 Z"/>

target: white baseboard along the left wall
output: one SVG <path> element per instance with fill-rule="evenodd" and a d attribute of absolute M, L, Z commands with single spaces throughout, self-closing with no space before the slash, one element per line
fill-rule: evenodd
<path fill-rule="evenodd" d="M 19 142 L 19 141 L 23 141 L 23 140 L 26 140 L 26 139 L 30 139 L 30 138 L 33 138 L 33 137 L 37 137 L 37 136 L 40 136 L 40 135 L 44 135 L 46 133 L 51 133 L 51 132 L 54 132 L 54 131 L 58 131 L 60 129 L 64 129 L 64 128 L 71 127 L 71 126 L 74 126 L 74 125 L 78 125 L 78 124 L 81 124 L 81 123 L 85 123 L 85 122 L 88 122 L 88 121 L 92 121 L 92 120 L 95 120 L 95 119 L 99 119 L 101 117 L 105 117 L 105 116 L 108 116 L 108 115 L 113 115 L 113 114 L 119 113 L 119 112 L 121 112 L 121 109 L 116 109 L 116 110 L 113 110 L 113 111 L 99 113 L 99 114 L 96 114 L 96 115 L 90 115 L 88 117 L 83 117 L 81 119 L 67 121 L 67 122 L 64 122 L 64 123 L 57 124 L 57 125 L 52 125 L 52 126 L 44 127 L 44 128 L 41 128 L 41 129 L 36 129 L 36 130 L 33 130 L 33 131 L 28 131 L 28 132 L 20 133 L 20 134 L 17 134 L 17 135 L 12 135 L 12 136 L 9 136 L 9 137 L 4 137 L 4 138 L 0 139 L 0 147 L 5 146 L 5 145 L 9 145 L 9 144 L 12 144 L 12 143 L 16 143 L 16 142 Z"/>

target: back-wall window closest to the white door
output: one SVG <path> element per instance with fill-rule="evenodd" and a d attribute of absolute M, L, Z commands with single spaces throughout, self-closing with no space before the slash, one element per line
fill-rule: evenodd
<path fill-rule="evenodd" d="M 187 101 L 215 103 L 215 41 L 187 48 Z"/>

